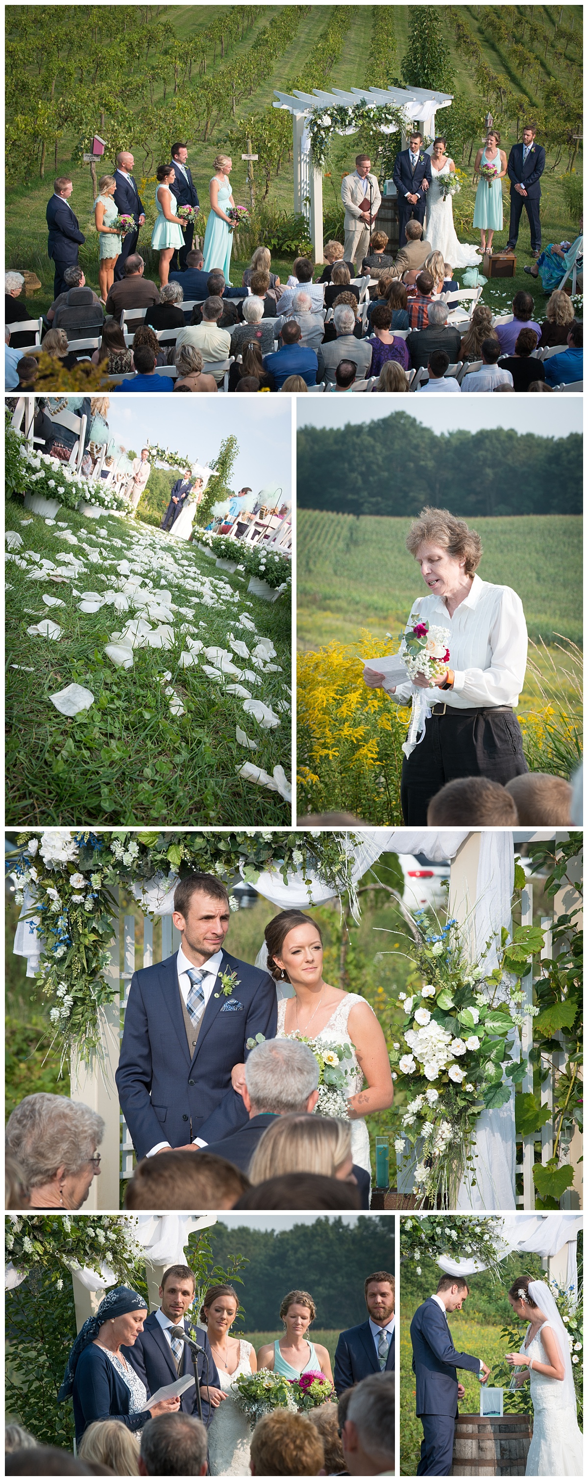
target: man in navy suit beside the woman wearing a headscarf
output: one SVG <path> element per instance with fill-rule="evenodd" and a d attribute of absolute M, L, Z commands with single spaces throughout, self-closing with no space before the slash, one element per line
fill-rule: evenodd
<path fill-rule="evenodd" d="M 202 1327 L 189 1331 L 185 1314 L 192 1306 L 195 1280 L 189 1265 L 170 1265 L 160 1286 L 160 1306 L 143 1323 L 131 1348 L 123 1348 L 127 1363 L 139 1373 L 148 1394 L 174 1383 L 176 1379 L 192 1377 L 194 1355 L 182 1337 L 171 1336 L 171 1327 L 183 1327 L 188 1336 L 198 1342 L 198 1382 L 204 1385 L 201 1395 L 202 1420 L 210 1423 L 222 1394 L 219 1371 Z M 192 1385 L 180 1397 L 180 1413 L 198 1419 L 196 1386 Z"/>

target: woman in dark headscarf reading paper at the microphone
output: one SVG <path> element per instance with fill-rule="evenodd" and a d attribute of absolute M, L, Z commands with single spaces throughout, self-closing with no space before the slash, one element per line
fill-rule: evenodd
<path fill-rule="evenodd" d="M 118 1419 L 134 1434 L 155 1414 L 176 1413 L 177 1398 L 149 1404 L 145 1383 L 130 1367 L 121 1348 L 131 1348 L 148 1305 L 129 1286 L 114 1286 L 106 1293 L 95 1317 L 89 1317 L 72 1343 L 65 1364 L 58 1404 L 71 1398 L 74 1405 L 75 1444 L 95 1420 Z"/>

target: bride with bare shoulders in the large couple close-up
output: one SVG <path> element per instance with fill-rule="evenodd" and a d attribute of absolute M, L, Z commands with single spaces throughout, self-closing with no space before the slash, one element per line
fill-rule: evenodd
<path fill-rule="evenodd" d="M 294 992 L 278 1001 L 276 1038 L 316 1038 L 321 1049 L 350 1044 L 352 1160 L 369 1171 L 369 1134 L 363 1117 L 387 1111 L 393 1099 L 390 1060 L 374 1009 L 358 992 L 332 988 L 322 976 L 322 936 L 303 911 L 281 911 L 266 926 L 267 972 Z M 278 992 L 278 997 L 281 994 Z M 242 1068 L 233 1069 L 239 1090 Z M 366 1081 L 365 1090 L 363 1080 Z"/>

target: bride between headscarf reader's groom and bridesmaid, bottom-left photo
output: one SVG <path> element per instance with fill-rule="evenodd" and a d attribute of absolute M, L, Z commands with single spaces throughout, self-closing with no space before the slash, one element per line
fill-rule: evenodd
<path fill-rule="evenodd" d="M 202 1302 L 201 1320 L 217 1365 L 223 1391 L 208 1426 L 208 1463 L 211 1477 L 248 1477 L 251 1429 L 236 1407 L 230 1385 L 238 1373 L 257 1373 L 256 1349 L 244 1337 L 230 1337 L 239 1309 L 232 1286 L 211 1286 Z M 213 1398 L 214 1404 L 214 1398 Z"/>

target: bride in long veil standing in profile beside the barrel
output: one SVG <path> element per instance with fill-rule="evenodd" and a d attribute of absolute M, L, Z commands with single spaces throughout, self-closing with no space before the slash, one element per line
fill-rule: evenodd
<path fill-rule="evenodd" d="M 533 1438 L 524 1475 L 584 1475 L 584 1444 L 576 1417 L 576 1391 L 570 1343 L 555 1300 L 545 1281 L 529 1275 L 514 1281 L 508 1291 L 514 1314 L 527 1321 L 520 1352 L 510 1352 L 510 1367 L 522 1367 L 516 1388 L 530 1382 Z"/>

